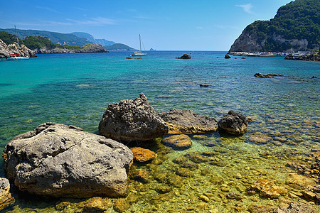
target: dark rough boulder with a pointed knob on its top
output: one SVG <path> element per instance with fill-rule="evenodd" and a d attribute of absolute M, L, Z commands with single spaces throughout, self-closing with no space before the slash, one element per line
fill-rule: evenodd
<path fill-rule="evenodd" d="M 143 93 L 134 100 L 109 104 L 99 124 L 99 133 L 117 141 L 151 141 L 168 133 L 169 127 L 149 106 Z"/>

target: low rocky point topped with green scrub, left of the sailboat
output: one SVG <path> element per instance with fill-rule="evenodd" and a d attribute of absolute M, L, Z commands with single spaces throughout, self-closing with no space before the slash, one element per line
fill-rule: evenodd
<path fill-rule="evenodd" d="M 108 53 L 102 45 L 94 43 L 86 44 L 80 49 L 67 49 L 67 48 L 38 48 L 34 50 L 37 54 L 50 54 L 50 53 Z"/>

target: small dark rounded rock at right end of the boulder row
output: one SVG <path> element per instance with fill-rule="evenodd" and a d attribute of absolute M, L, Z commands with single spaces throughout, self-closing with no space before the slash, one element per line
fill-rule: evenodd
<path fill-rule="evenodd" d="M 226 131 L 232 135 L 241 135 L 247 131 L 247 119 L 242 114 L 230 110 L 228 114 L 220 119 L 219 130 Z"/>

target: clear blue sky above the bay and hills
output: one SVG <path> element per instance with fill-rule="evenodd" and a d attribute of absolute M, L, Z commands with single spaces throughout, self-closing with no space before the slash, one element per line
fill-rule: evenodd
<path fill-rule="evenodd" d="M 244 28 L 291 0 L 1 1 L 0 28 L 85 32 L 146 50 L 228 51 Z"/>

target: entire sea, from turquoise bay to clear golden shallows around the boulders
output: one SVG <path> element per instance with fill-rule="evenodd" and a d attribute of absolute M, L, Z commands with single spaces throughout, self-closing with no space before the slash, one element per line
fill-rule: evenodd
<path fill-rule="evenodd" d="M 183 53 L 191 59 L 176 59 Z M 119 204 L 122 212 L 249 212 L 291 202 L 309 202 L 320 211 L 303 196 L 306 182 L 319 184 L 319 170 L 313 166 L 320 155 L 320 62 L 225 59 L 225 53 L 149 51 L 129 60 L 131 52 L 115 51 L 2 60 L 0 152 L 14 136 L 44 122 L 98 133 L 108 104 L 144 93 L 157 112 L 191 109 L 218 120 L 237 111 L 249 118 L 247 132 L 192 134 L 193 146 L 181 151 L 160 139 L 144 145 L 159 159 L 132 165 L 132 170 L 146 171 L 149 181 L 129 180 L 127 198 L 102 198 L 110 203 L 106 212 L 119 212 Z M 283 77 L 254 77 L 257 72 Z M 0 176 L 6 177 L 2 158 Z M 286 192 L 276 198 L 249 193 L 247 188 L 259 180 Z M 16 202 L 3 212 L 81 212 L 88 203 L 17 190 L 14 196 Z"/>

